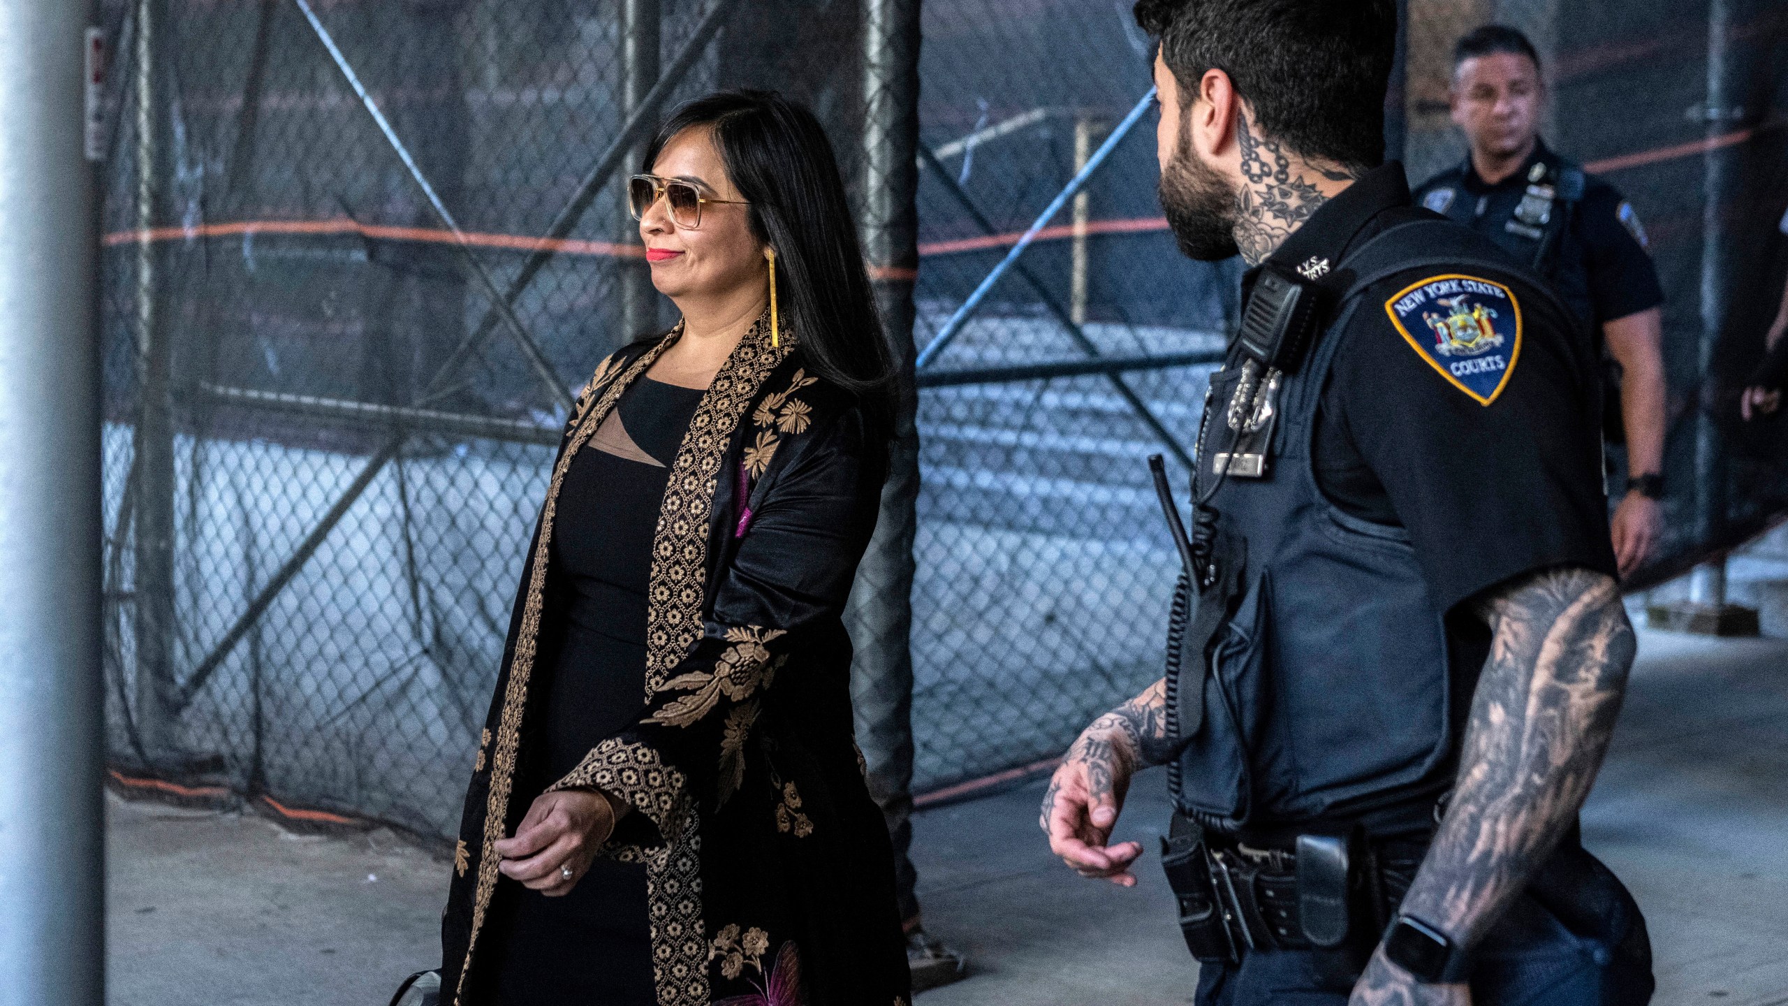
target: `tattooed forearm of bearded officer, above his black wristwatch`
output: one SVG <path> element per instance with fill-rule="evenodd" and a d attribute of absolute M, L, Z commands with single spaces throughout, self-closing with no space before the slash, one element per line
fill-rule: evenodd
<path fill-rule="evenodd" d="M 1520 580 L 1482 603 L 1491 653 L 1459 780 L 1404 911 L 1472 945 L 1570 827 L 1607 752 L 1634 637 L 1615 582 Z"/>

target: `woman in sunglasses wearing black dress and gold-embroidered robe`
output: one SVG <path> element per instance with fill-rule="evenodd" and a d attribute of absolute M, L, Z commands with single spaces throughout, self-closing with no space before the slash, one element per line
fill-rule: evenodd
<path fill-rule="evenodd" d="M 812 113 L 724 91 L 629 202 L 683 319 L 567 422 L 476 755 L 443 920 L 463 1006 L 903 1006 L 840 614 L 894 412 Z M 735 999 L 737 997 L 737 999 Z"/>

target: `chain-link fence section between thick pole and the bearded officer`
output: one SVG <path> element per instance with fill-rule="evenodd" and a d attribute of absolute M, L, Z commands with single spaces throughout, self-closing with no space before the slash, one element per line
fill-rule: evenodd
<path fill-rule="evenodd" d="M 1239 269 L 1187 261 L 1160 218 L 1155 118 L 1132 116 L 1150 41 L 1128 4 L 932 4 L 923 54 L 912 646 L 926 789 L 1057 755 L 1160 677 L 1178 558 L 1146 458 L 1185 483 L 1210 367 L 1159 363 L 1221 351 Z M 1046 229 L 958 317 L 1033 224 Z M 1012 379 L 1042 362 L 1146 369 Z"/>

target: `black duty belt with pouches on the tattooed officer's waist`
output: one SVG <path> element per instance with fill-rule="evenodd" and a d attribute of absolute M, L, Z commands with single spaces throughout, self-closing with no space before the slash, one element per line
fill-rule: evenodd
<path fill-rule="evenodd" d="M 1207 836 L 1175 814 L 1160 863 L 1200 961 L 1261 951 L 1370 952 L 1421 863 L 1425 841 L 1300 834 L 1291 848 Z"/>

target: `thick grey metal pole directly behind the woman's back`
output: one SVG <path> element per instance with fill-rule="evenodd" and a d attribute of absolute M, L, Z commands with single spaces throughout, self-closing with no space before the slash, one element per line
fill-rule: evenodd
<path fill-rule="evenodd" d="M 901 362 L 899 413 L 881 489 L 881 519 L 846 619 L 856 659 L 851 700 L 869 793 L 894 840 L 901 913 L 912 897 L 912 544 L 919 499 L 919 390 L 912 285 L 919 269 L 919 0 L 864 0 L 864 147 L 858 229 L 881 324 Z"/>

